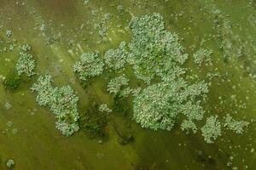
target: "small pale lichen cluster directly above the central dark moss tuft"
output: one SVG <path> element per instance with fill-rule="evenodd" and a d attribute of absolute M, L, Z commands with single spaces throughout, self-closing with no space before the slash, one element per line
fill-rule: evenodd
<path fill-rule="evenodd" d="M 110 94 L 118 94 L 121 88 L 128 85 L 129 79 L 125 75 L 114 77 L 108 82 L 107 91 Z"/>

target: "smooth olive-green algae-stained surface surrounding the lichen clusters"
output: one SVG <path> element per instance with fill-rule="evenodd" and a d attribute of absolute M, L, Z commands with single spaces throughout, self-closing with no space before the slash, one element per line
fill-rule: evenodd
<path fill-rule="evenodd" d="M 123 5 L 124 14 L 116 10 L 119 5 Z M 99 12 L 93 15 L 92 10 Z M 101 42 L 94 25 L 106 13 L 113 14 L 113 19 L 108 22 L 108 41 Z M 204 105 L 206 116 L 233 114 L 247 121 L 255 119 L 256 2 L 253 0 L 90 0 L 86 4 L 83 0 L 0 0 L 0 40 L 3 40 L 0 47 L 9 47 L 8 42 L 14 39 L 18 46 L 30 44 L 38 75 L 50 73 L 55 76 L 55 85 L 72 86 L 79 96 L 79 106 L 89 104 L 90 99 L 110 104 L 113 97 L 106 91 L 109 75 L 90 80 L 84 89 L 72 65 L 84 52 L 95 49 L 102 52 L 116 48 L 121 41 L 129 42 L 131 32 L 126 27 L 131 17 L 154 13 L 162 14 L 166 29 L 182 39 L 185 53 L 189 54 L 185 64 L 189 68 L 188 75 L 201 79 L 209 72 L 222 75 L 212 79 L 207 105 Z M 44 33 L 40 31 L 43 24 Z M 229 29 L 226 24 L 231 25 Z M 6 37 L 8 30 L 12 31 L 9 38 Z M 59 41 L 47 45 L 49 37 L 58 37 Z M 220 48 L 222 42 L 231 42 L 227 52 Z M 212 65 L 197 67 L 193 63 L 192 55 L 201 43 L 214 52 Z M 244 53 L 237 56 L 241 46 Z M 17 58 L 18 47 L 13 52 L 0 53 L 0 75 L 7 76 L 14 71 Z M 129 77 L 131 71 L 128 70 L 127 75 Z M 137 125 L 131 118 L 132 113 L 127 116 L 111 113 L 108 138 L 103 139 L 103 144 L 83 132 L 64 137 L 55 129 L 55 117 L 49 109 L 38 106 L 35 94 L 29 89 L 37 77 L 22 83 L 12 93 L 0 84 L 0 169 L 8 169 L 9 158 L 15 160 L 13 169 L 17 170 L 256 168 L 256 125 L 253 122 L 241 135 L 224 130 L 214 144 L 206 144 L 201 133 L 183 133 L 178 121 L 170 132 L 155 132 Z M 231 95 L 236 95 L 236 103 Z M 6 102 L 12 105 L 9 110 L 4 108 Z M 131 99 L 127 99 L 127 105 L 131 105 Z M 13 126 L 9 127 L 8 122 L 13 122 Z M 119 144 L 115 129 L 132 133 L 135 141 Z"/>

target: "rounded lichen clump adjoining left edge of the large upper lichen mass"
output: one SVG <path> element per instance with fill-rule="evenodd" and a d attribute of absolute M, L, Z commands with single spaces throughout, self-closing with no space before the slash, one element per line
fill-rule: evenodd
<path fill-rule="evenodd" d="M 108 49 L 104 55 L 108 68 L 117 71 L 125 66 L 128 52 L 125 49 L 126 42 L 120 42 L 119 48 Z"/>

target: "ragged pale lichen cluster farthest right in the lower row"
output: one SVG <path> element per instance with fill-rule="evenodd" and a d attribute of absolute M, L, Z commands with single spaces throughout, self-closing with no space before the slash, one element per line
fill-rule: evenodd
<path fill-rule="evenodd" d="M 242 134 L 244 132 L 244 127 L 247 127 L 250 123 L 246 121 L 236 121 L 230 114 L 224 119 L 224 127 L 229 130 L 234 131 L 237 134 Z"/>

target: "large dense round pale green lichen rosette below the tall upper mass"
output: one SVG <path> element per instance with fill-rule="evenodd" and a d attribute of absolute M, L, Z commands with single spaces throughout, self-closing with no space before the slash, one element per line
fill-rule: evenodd
<path fill-rule="evenodd" d="M 177 113 L 177 101 L 172 98 L 165 83 L 145 88 L 142 94 L 134 99 L 133 118 L 142 127 L 171 130 Z"/>

